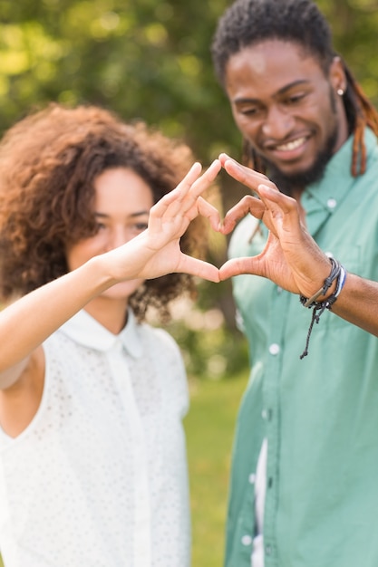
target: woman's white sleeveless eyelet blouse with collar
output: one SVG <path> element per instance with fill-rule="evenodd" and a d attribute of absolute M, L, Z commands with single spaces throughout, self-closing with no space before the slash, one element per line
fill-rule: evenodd
<path fill-rule="evenodd" d="M 41 406 L 0 435 L 6 567 L 189 567 L 179 348 L 137 324 L 119 335 L 79 312 L 44 343 Z"/>

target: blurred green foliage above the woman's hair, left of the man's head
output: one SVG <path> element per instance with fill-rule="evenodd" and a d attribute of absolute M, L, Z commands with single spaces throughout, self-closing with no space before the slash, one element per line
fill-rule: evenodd
<path fill-rule="evenodd" d="M 218 120 L 226 105 L 209 54 L 226 5 L 3 0 L 0 129 L 46 101 L 91 102 L 186 138 L 209 159 L 232 131 L 229 111 Z"/>

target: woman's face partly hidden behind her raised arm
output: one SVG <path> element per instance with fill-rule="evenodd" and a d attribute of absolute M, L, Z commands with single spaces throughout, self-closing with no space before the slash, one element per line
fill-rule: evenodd
<path fill-rule="evenodd" d="M 70 271 L 92 256 L 109 252 L 147 228 L 153 195 L 150 186 L 132 169 L 110 168 L 94 180 L 97 233 L 70 245 L 66 251 Z M 102 297 L 127 299 L 141 280 L 117 283 Z"/>

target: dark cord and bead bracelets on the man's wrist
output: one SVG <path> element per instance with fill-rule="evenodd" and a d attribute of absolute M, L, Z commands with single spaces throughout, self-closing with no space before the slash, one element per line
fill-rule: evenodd
<path fill-rule="evenodd" d="M 320 315 L 322 315 L 322 313 L 324 313 L 326 309 L 328 310 L 332 309 L 334 302 L 336 301 L 336 299 L 338 298 L 340 292 L 344 287 L 344 283 L 346 280 L 346 270 L 344 268 L 344 265 L 340 264 L 338 260 L 334 260 L 334 258 L 330 258 L 330 262 L 332 264 L 331 273 L 327 278 L 325 278 L 325 283 L 320 288 L 320 290 L 316 292 L 309 299 L 307 299 L 303 295 L 300 295 L 299 297 L 299 301 L 302 303 L 302 305 L 304 305 L 304 307 L 308 307 L 308 309 L 314 307 L 310 327 L 307 332 L 307 339 L 305 341 L 305 351 L 303 351 L 301 356 L 299 357 L 301 360 L 304 359 L 305 356 L 307 356 L 308 354 L 308 345 L 310 342 L 310 337 L 313 331 L 314 323 L 319 322 Z M 323 302 L 316 302 L 316 299 L 318 297 L 320 297 L 321 295 L 325 295 L 325 293 L 327 293 L 334 280 L 337 280 L 336 289 L 334 293 L 332 293 L 329 297 L 323 300 Z"/>

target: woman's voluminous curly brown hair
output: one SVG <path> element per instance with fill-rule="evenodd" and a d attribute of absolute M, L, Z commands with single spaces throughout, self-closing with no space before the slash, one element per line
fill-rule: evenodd
<path fill-rule="evenodd" d="M 102 171 L 131 168 L 157 202 L 179 184 L 193 160 L 184 143 L 94 106 L 51 103 L 17 122 L 0 142 L 1 300 L 68 271 L 67 245 L 95 233 L 93 181 Z M 181 238 L 182 251 L 203 258 L 206 236 L 198 217 Z M 147 280 L 130 304 L 139 321 L 149 306 L 166 320 L 170 301 L 194 291 L 188 274 L 168 274 Z"/>

